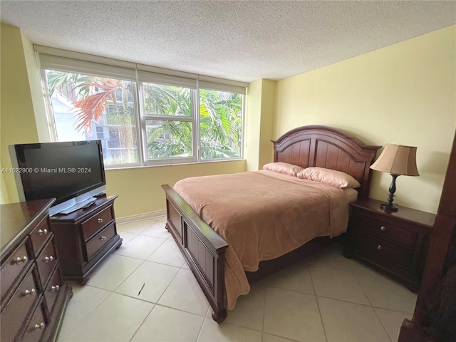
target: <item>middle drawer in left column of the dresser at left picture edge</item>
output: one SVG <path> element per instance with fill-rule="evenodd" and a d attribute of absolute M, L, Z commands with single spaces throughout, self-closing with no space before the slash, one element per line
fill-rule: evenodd
<path fill-rule="evenodd" d="M 24 281 L 16 289 L 16 292 L 8 302 L 4 311 L 1 312 L 1 341 L 14 341 L 24 324 L 24 318 L 31 311 L 33 303 L 38 298 L 38 289 L 35 286 L 33 272 L 35 266 L 26 274 Z M 8 328 L 5 328 L 5 327 Z"/>

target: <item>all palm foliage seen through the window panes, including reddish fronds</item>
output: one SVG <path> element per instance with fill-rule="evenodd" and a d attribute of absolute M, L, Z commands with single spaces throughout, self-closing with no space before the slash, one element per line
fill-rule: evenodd
<path fill-rule="evenodd" d="M 125 147 L 128 149 L 133 147 L 135 120 L 130 81 L 58 71 L 47 71 L 47 78 L 51 94 L 56 91 L 58 86 L 67 87 L 73 93 L 78 100 L 76 105 L 83 108 L 83 125 L 86 129 L 90 130 L 92 121 L 99 117 L 98 112 L 103 107 L 106 123 L 120 126 L 122 140 L 128 145 Z M 100 86 L 105 90 L 103 98 L 100 98 L 101 94 L 93 94 L 93 90 L 90 88 L 94 86 Z M 98 103 L 88 101 L 94 95 L 98 95 L 100 98 Z M 142 83 L 145 115 L 155 116 L 155 120 L 146 120 L 147 156 L 150 159 L 194 155 L 192 123 L 180 120 L 182 117 L 192 117 L 194 97 L 196 98 L 196 96 L 192 96 L 192 90 L 189 88 Z M 109 103 L 107 99 L 110 100 Z M 94 113 L 98 113 L 98 116 Z M 160 116 L 163 117 L 162 120 L 157 118 Z M 172 120 L 171 117 L 174 117 L 175 120 Z M 241 135 L 242 95 L 200 89 L 199 144 L 201 157 L 203 159 L 240 157 Z"/>

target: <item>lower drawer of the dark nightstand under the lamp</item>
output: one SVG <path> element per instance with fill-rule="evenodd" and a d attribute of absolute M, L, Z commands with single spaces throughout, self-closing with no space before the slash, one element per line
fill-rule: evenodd
<path fill-rule="evenodd" d="M 413 252 L 395 246 L 385 239 L 371 237 L 366 234 L 356 233 L 353 235 L 353 240 L 356 245 L 355 254 L 363 256 L 368 255 L 368 259 L 375 258 L 379 264 L 393 264 L 402 269 L 410 269 L 413 262 Z"/>

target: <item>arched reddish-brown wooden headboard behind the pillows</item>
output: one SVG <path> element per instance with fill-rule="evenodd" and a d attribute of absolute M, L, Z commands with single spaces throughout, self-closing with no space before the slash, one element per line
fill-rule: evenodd
<path fill-rule="evenodd" d="M 326 167 L 353 176 L 361 187 L 358 198 L 369 196 L 371 169 L 381 146 L 370 146 L 340 130 L 309 125 L 295 128 L 274 142 L 274 162 L 301 167 Z"/>

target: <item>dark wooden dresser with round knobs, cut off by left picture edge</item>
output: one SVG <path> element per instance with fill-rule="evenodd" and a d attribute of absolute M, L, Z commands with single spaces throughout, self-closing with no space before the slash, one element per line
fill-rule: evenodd
<path fill-rule="evenodd" d="M 48 209 L 54 199 L 1 205 L 1 341 L 56 341 L 73 295 L 63 284 Z"/>

